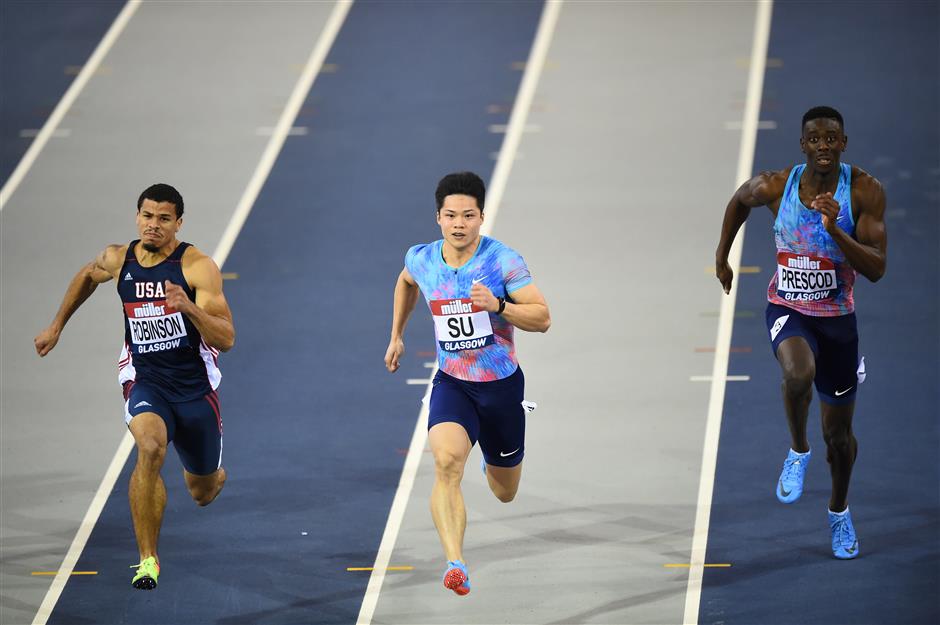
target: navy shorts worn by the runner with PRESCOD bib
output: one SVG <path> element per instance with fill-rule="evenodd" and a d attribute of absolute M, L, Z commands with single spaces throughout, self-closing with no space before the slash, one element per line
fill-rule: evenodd
<path fill-rule="evenodd" d="M 777 347 L 791 336 L 802 336 L 816 357 L 816 392 L 827 404 L 844 405 L 855 401 L 858 390 L 858 328 L 855 313 L 839 317 L 811 317 L 780 306 L 767 304 L 767 330 L 777 355 Z"/>

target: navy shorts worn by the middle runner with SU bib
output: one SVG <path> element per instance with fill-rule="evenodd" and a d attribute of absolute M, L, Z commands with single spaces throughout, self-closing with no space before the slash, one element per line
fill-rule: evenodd
<path fill-rule="evenodd" d="M 480 441 L 487 464 L 514 467 L 525 455 L 525 376 L 515 373 L 492 382 L 466 382 L 443 371 L 434 376 L 428 429 L 459 423 L 470 444 Z"/>

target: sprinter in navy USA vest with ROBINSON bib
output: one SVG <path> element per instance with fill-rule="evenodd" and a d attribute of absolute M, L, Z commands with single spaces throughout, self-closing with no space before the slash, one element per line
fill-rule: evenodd
<path fill-rule="evenodd" d="M 118 380 L 124 419 L 137 444 L 128 494 L 140 563 L 134 588 L 157 586 L 157 538 L 166 507 L 160 468 L 173 441 L 183 478 L 197 504 L 206 506 L 225 484 L 222 414 L 216 360 L 231 349 L 235 327 L 215 262 L 176 239 L 183 198 L 173 187 L 153 185 L 137 200 L 140 239 L 109 245 L 76 274 L 52 323 L 35 339 L 36 352 L 55 347 L 69 318 L 99 284 L 116 280 L 124 306 L 124 348 Z"/>

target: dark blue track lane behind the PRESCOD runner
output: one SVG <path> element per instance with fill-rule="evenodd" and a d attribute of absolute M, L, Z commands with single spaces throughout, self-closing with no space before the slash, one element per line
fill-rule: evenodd
<path fill-rule="evenodd" d="M 839 109 L 849 137 L 844 161 L 870 172 L 888 196 L 888 271 L 859 277 L 860 352 L 868 379 L 855 412 L 858 460 L 849 505 L 860 556 L 829 547 L 829 470 L 819 403 L 810 409 L 813 460 L 796 504 L 774 486 L 789 447 L 780 374 L 764 325 L 774 266 L 770 213 L 747 224 L 725 398 L 700 623 L 940 622 L 938 488 L 938 239 L 940 83 L 938 5 L 933 2 L 777 2 L 755 171 L 802 160 L 800 118 L 817 104 Z M 729 195 L 731 190 L 729 189 Z M 717 236 L 718 224 L 715 235 Z M 715 288 L 718 288 L 716 282 Z"/>

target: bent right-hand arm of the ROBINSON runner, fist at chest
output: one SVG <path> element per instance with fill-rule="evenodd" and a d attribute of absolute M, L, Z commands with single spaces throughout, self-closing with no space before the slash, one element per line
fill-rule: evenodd
<path fill-rule="evenodd" d="M 235 324 L 222 293 L 222 273 L 215 261 L 194 248 L 188 249 L 183 255 L 183 276 L 196 291 L 196 303 L 189 299 L 183 287 L 167 280 L 167 306 L 189 317 L 207 345 L 222 352 L 232 349 Z"/>

